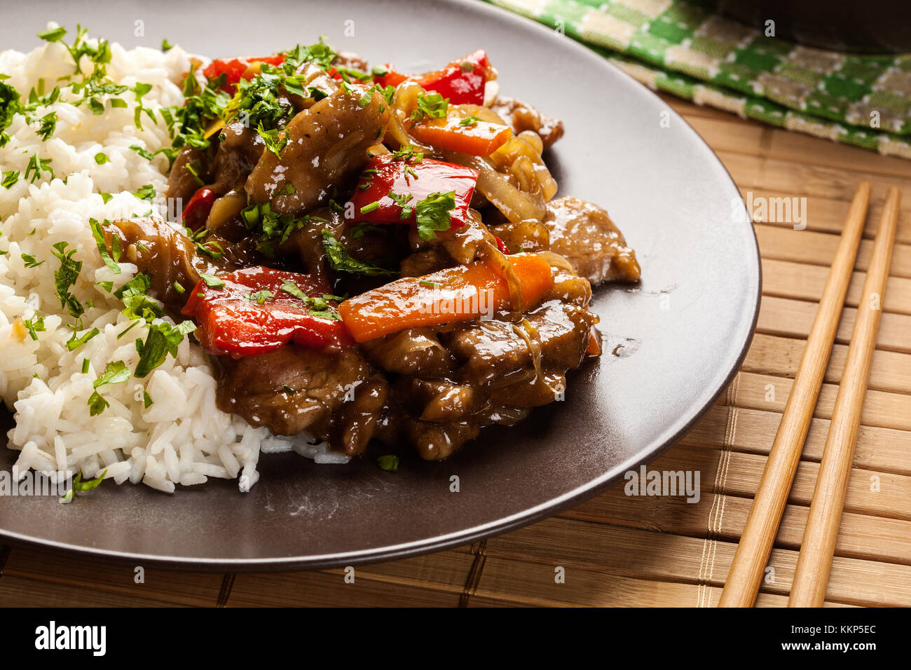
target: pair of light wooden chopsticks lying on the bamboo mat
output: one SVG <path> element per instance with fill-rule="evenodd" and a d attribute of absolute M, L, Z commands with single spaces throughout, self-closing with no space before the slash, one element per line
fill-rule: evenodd
<path fill-rule="evenodd" d="M 807 337 L 804 356 L 797 368 L 791 394 L 763 470 L 763 478 L 756 490 L 731 571 L 724 584 L 720 607 L 750 607 L 759 593 L 823 384 L 844 297 L 854 270 L 857 247 L 864 231 L 870 192 L 870 182 L 862 181 L 851 202 L 823 297 Z M 876 232 L 861 302 L 857 308 L 854 333 L 851 335 L 847 362 L 838 387 L 829 435 L 804 530 L 804 541 L 797 559 L 788 601 L 790 607 L 823 605 L 854 459 L 861 407 L 864 404 L 879 330 L 900 204 L 901 191 L 889 189 Z"/>

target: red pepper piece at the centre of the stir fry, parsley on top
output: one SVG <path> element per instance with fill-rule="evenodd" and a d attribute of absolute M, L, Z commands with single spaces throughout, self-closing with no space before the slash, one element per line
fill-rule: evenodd
<path fill-rule="evenodd" d="M 418 201 L 431 193 L 455 191 L 449 227 L 461 228 L 476 183 L 476 170 L 455 163 L 431 159 L 417 162 L 388 153 L 376 156 L 361 174 L 351 198 L 354 218 L 374 223 L 414 223 Z M 379 204 L 374 206 L 374 202 Z"/>

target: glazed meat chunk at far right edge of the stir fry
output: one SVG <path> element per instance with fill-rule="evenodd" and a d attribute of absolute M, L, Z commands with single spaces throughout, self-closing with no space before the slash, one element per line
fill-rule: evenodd
<path fill-rule="evenodd" d="M 558 198 L 548 203 L 544 224 L 550 232 L 550 251 L 566 257 L 589 282 L 639 281 L 636 253 L 598 205 L 568 196 Z"/>

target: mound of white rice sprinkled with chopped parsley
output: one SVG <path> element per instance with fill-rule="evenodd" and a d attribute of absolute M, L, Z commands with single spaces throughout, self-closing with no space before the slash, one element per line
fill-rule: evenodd
<path fill-rule="evenodd" d="M 6 129 L 11 139 L 0 148 L 0 170 L 21 173 L 11 188 L 0 187 L 0 252 L 7 252 L 0 255 L 0 396 L 15 413 L 8 446 L 20 452 L 16 467 L 20 473 L 81 470 L 84 479 L 107 469 L 106 479 L 118 484 L 141 481 L 170 493 L 177 484 L 194 486 L 210 477 L 239 478 L 240 489 L 250 490 L 259 479 L 256 464 L 261 451 L 293 449 L 317 462 L 347 461 L 324 443 L 306 444 L 306 436 L 274 438 L 267 428 L 252 428 L 241 417 L 220 411 L 208 356 L 189 338 L 179 345 L 176 358 L 168 356 L 145 378 L 132 376 L 125 383 L 101 387 L 110 406 L 89 416 L 92 382 L 112 361 L 122 360 L 133 370 L 138 361 L 135 340 L 145 339 L 148 326 L 136 325 L 118 339 L 131 322 L 121 313 L 123 305 L 96 282 L 113 282 L 117 288 L 137 268 L 119 263 L 121 273 L 112 273 L 101 261 L 88 220 L 144 215 L 150 203 L 133 192 L 145 184 L 152 184 L 159 194 L 165 191 L 167 159 L 149 161 L 129 147 L 155 151 L 170 146 L 158 112 L 183 103 L 180 82 L 190 67 L 189 56 L 177 46 L 162 53 L 143 47 L 128 51 L 112 44 L 111 55 L 108 77 L 127 86 L 153 86 L 142 101 L 158 124 L 144 116 L 143 129 L 136 128 L 131 92 L 116 96 L 128 101 L 127 108 L 106 104 L 104 114 L 94 115 L 86 105 L 67 103 L 77 97 L 65 90 L 61 100 L 32 113 L 40 119 L 56 112 L 50 139 L 42 141 L 36 135 L 38 122 L 29 124 L 19 114 Z M 84 58 L 83 70 L 90 72 L 91 67 Z M 0 52 L 0 73 L 9 76 L 5 83 L 24 98 L 39 79 L 49 84 L 49 92 L 57 77 L 72 75 L 73 69 L 67 49 L 57 43 L 43 44 L 28 54 Z M 99 152 L 108 158 L 103 165 L 95 159 Z M 33 154 L 51 159 L 55 179 L 46 173 L 34 183 L 25 179 Z M 113 197 L 105 203 L 101 192 Z M 75 319 L 61 308 L 56 294 L 56 242 L 67 242 L 67 250 L 76 250 L 74 258 L 83 263 L 70 291 L 83 304 L 94 304 L 83 315 L 78 335 L 92 328 L 100 331 L 72 352 L 66 343 Z M 26 267 L 23 253 L 43 263 Z M 39 317 L 44 317 L 46 329 L 36 331 L 33 340 L 23 322 Z M 85 359 L 89 363 L 84 374 Z M 144 392 L 152 399 L 148 408 Z"/>

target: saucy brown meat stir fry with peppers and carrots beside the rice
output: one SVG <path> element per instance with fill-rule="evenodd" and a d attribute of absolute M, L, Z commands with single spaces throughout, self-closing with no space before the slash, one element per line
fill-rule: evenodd
<path fill-rule="evenodd" d="M 103 232 L 195 320 L 222 409 L 445 459 L 599 356 L 591 284 L 638 281 L 635 253 L 606 211 L 555 197 L 542 153 L 563 124 L 487 95 L 484 51 L 412 76 L 322 43 L 200 71 L 169 176 L 184 232 Z"/>

